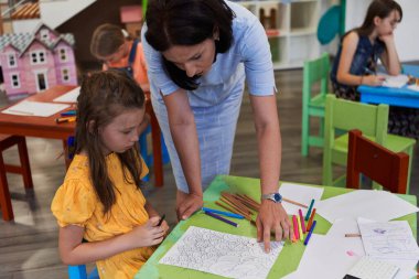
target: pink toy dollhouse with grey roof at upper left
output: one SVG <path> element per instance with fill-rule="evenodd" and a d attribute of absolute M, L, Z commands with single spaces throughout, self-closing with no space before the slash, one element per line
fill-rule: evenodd
<path fill-rule="evenodd" d="M 57 84 L 76 85 L 73 34 L 41 23 L 32 33 L 0 36 L 0 65 L 7 95 L 33 94 Z"/>

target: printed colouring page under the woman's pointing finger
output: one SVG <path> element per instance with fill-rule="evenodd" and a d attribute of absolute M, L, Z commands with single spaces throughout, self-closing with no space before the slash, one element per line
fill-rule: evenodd
<path fill-rule="evenodd" d="M 229 278 L 266 278 L 283 245 L 271 242 L 269 254 L 262 245 L 256 238 L 191 226 L 159 262 Z"/>

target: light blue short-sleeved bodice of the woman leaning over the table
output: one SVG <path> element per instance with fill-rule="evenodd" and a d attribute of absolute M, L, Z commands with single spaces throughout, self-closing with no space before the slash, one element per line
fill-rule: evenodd
<path fill-rule="evenodd" d="M 233 87 L 241 86 L 246 74 L 249 93 L 272 95 L 276 92 L 273 66 L 266 32 L 259 20 L 240 4 L 226 1 L 236 18 L 233 20 L 234 41 L 226 53 L 218 53 L 211 71 L 197 82 L 200 87 L 189 92 L 191 107 L 206 107 L 226 98 Z M 161 100 L 160 92 L 170 95 L 179 89 L 164 72 L 162 55 L 154 51 L 144 37 L 142 42 L 148 63 L 150 89 Z"/>

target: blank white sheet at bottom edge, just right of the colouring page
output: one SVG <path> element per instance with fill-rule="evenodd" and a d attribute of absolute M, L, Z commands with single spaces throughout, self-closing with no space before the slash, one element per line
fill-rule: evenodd
<path fill-rule="evenodd" d="M 361 238 L 312 234 L 297 271 L 284 278 L 343 278 L 362 256 Z"/>

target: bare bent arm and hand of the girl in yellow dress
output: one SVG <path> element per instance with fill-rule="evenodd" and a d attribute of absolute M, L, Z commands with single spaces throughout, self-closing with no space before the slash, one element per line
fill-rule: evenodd
<path fill-rule="evenodd" d="M 155 226 L 158 222 L 159 217 L 155 216 L 127 234 L 94 243 L 82 243 L 84 227 L 76 225 L 61 227 L 58 240 L 61 259 L 65 265 L 84 265 L 126 250 L 157 245 L 165 235 L 163 226 Z"/>

